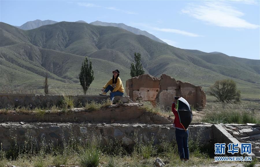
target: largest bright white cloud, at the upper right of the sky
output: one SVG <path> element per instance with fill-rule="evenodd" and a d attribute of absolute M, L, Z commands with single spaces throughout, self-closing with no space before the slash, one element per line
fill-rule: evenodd
<path fill-rule="evenodd" d="M 181 12 L 220 27 L 250 29 L 259 27 L 259 25 L 251 24 L 241 19 L 240 17 L 244 16 L 244 13 L 225 2 L 211 1 L 203 2 L 200 5 L 189 4 Z"/>

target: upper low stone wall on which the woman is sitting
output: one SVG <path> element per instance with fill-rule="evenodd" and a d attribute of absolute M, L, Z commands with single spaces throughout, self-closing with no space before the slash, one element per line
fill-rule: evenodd
<path fill-rule="evenodd" d="M 71 96 L 74 99 L 75 107 L 80 103 L 85 104 L 88 101 L 101 102 L 106 100 L 110 96 L 92 96 L 92 95 L 76 95 Z M 36 95 L 36 94 L 9 94 L 0 93 L 0 108 L 6 108 L 9 106 L 29 106 L 29 107 L 47 107 L 53 105 L 60 105 L 64 96 L 62 95 Z M 129 96 L 116 96 L 114 103 L 118 101 L 123 103 L 132 102 L 129 100 Z"/>

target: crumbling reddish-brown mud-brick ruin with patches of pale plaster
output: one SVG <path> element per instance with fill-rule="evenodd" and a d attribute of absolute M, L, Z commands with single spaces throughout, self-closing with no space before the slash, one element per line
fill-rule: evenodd
<path fill-rule="evenodd" d="M 166 74 L 160 78 L 143 74 L 126 81 L 126 92 L 131 100 L 142 98 L 153 104 L 171 107 L 174 96 L 183 97 L 196 109 L 205 107 L 206 94 L 200 86 L 175 80 Z"/>

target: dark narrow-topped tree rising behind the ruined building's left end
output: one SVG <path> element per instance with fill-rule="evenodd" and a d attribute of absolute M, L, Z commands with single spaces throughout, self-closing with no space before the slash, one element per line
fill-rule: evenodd
<path fill-rule="evenodd" d="M 141 54 L 138 52 L 136 54 L 135 52 L 135 62 L 136 64 L 134 65 L 134 63 L 131 63 L 131 67 L 130 67 L 130 75 L 131 77 L 135 77 L 135 76 L 139 76 L 144 74 L 144 69 L 141 63 Z"/>

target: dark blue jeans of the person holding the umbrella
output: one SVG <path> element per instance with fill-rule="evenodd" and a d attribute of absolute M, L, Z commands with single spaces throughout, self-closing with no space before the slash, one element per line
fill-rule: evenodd
<path fill-rule="evenodd" d="M 175 137 L 176 142 L 178 145 L 178 152 L 180 155 L 180 159 L 189 159 L 189 146 L 188 146 L 188 137 L 189 137 L 189 130 L 180 130 L 175 128 Z"/>

